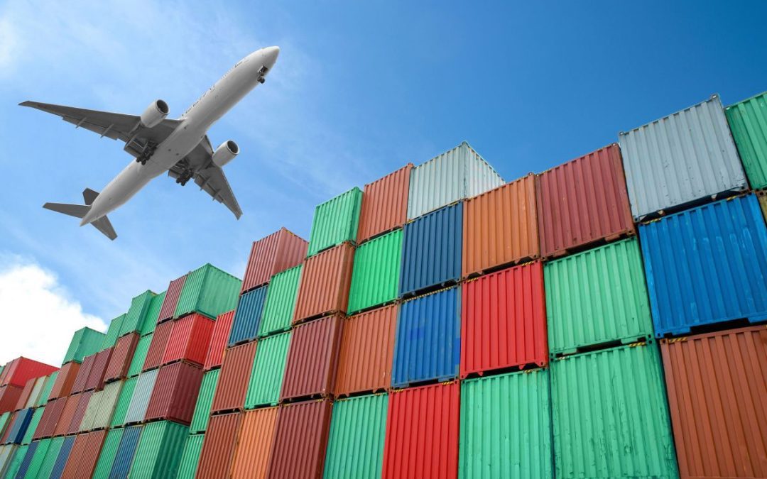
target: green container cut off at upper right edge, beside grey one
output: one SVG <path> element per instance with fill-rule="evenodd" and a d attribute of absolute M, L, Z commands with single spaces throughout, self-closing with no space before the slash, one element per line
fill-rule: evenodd
<path fill-rule="evenodd" d="M 730 105 L 724 112 L 751 187 L 767 187 L 767 92 Z"/>

